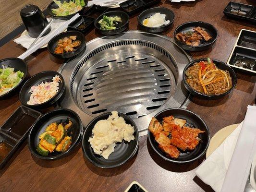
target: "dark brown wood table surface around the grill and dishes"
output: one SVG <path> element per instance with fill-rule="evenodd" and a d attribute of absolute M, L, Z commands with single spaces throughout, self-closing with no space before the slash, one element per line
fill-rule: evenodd
<path fill-rule="evenodd" d="M 236 0 L 256 5 L 254 0 Z M 256 25 L 228 19 L 223 9 L 229 0 L 195 0 L 193 2 L 171 3 L 162 0 L 158 6 L 170 8 L 175 13 L 173 27 L 164 33 L 173 37 L 174 29 L 188 21 L 204 21 L 213 24 L 219 31 L 215 46 L 202 52 L 191 53 L 194 59 L 211 57 L 227 61 L 241 29 L 256 31 Z M 130 19 L 130 30 L 137 29 L 137 16 Z M 98 34 L 92 30 L 86 41 Z M 13 41 L 0 48 L 0 59 L 18 57 L 25 51 Z M 46 48 L 37 50 L 26 59 L 29 74 L 55 70 L 61 61 L 49 55 Z M 237 72 L 237 71 L 236 71 Z M 211 136 L 221 128 L 244 119 L 247 105 L 256 103 L 256 76 L 237 72 L 238 82 L 234 91 L 219 100 L 204 101 L 193 98 L 188 109 L 201 116 L 207 123 Z M 0 100 L 0 124 L 9 118 L 21 105 L 18 94 Z M 44 112 L 53 108 L 45 109 Z M 146 125 L 147 126 L 147 125 Z M 20 147 L 5 168 L 0 170 L 0 191 L 83 191 L 123 192 L 136 180 L 149 192 L 212 192 L 213 190 L 195 176 L 195 168 L 203 161 L 176 165 L 163 161 L 147 143 L 147 137 L 140 137 L 139 150 L 125 165 L 119 168 L 102 169 L 93 166 L 83 157 L 79 147 L 65 158 L 44 161 L 30 154 L 27 143 Z"/>

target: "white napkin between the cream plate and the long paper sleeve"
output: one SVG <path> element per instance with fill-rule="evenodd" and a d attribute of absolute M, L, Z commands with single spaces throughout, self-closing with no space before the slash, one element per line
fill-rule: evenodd
<path fill-rule="evenodd" d="M 195 174 L 215 192 L 220 192 L 243 122 L 196 169 Z"/>

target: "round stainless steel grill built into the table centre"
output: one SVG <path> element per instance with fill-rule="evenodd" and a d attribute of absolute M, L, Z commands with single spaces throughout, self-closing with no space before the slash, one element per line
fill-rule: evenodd
<path fill-rule="evenodd" d="M 191 58 L 171 38 L 129 31 L 93 39 L 86 46 L 59 70 L 66 84 L 60 105 L 78 113 L 84 126 L 117 110 L 142 132 L 160 110 L 188 103 L 182 72 Z"/>

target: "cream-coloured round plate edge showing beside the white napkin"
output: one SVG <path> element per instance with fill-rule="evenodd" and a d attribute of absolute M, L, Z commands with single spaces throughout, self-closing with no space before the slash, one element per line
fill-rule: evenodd
<path fill-rule="evenodd" d="M 238 124 L 229 125 L 227 127 L 222 128 L 218 132 L 216 132 L 210 140 L 210 144 L 206 151 L 206 158 L 210 156 L 215 149 L 219 147 L 220 144 L 237 128 Z"/>

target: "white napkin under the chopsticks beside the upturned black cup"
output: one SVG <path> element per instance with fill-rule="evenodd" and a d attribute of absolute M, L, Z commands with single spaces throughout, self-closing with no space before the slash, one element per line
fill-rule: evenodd
<path fill-rule="evenodd" d="M 49 18 L 47 19 L 48 21 L 50 20 Z M 52 36 L 52 34 L 54 33 L 54 31 L 56 31 L 62 24 L 64 24 L 66 21 L 64 20 L 60 20 L 60 19 L 55 19 L 52 24 L 51 24 L 51 31 L 49 32 L 48 35 L 46 36 Z M 45 36 L 40 37 L 37 41 L 37 43 L 43 39 Z M 35 41 L 36 38 L 33 38 L 31 36 L 28 35 L 27 31 L 25 30 L 25 33 L 23 36 L 20 36 L 16 39 L 14 39 L 13 41 L 17 44 L 20 44 L 22 47 L 24 48 L 29 48 L 29 46 Z M 36 43 L 36 44 L 37 44 Z M 36 45 L 35 44 L 35 45 Z M 46 45 L 43 45 L 41 48 L 45 48 L 47 47 Z"/>

